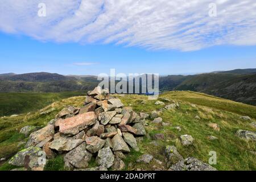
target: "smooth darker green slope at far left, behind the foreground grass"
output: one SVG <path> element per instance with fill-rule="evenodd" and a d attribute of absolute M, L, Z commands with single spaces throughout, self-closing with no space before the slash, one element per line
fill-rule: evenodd
<path fill-rule="evenodd" d="M 0 117 L 35 111 L 63 98 L 85 94 L 86 92 L 0 93 Z"/>

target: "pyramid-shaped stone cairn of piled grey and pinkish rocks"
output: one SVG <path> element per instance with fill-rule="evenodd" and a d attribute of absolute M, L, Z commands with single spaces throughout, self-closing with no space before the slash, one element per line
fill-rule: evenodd
<path fill-rule="evenodd" d="M 63 155 L 70 170 L 121 170 L 121 159 L 131 148 L 138 151 L 137 139 L 146 135 L 145 117 L 98 86 L 88 92 L 84 106 L 64 108 L 46 127 L 31 133 L 26 148 L 9 164 L 39 171 L 48 159 Z M 92 158 L 98 167 L 88 168 Z"/>

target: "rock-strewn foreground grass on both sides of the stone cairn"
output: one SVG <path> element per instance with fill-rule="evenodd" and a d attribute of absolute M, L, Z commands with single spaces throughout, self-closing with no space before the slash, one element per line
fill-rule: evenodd
<path fill-rule="evenodd" d="M 152 110 L 161 109 L 164 106 L 155 105 L 155 100 L 147 100 L 147 96 L 138 95 L 117 95 L 123 104 L 131 106 L 137 112 L 143 111 L 150 113 Z M 166 101 L 164 99 L 170 101 Z M 72 97 L 62 101 L 53 103 L 47 109 L 54 107 L 55 111 L 47 115 L 39 115 L 39 111 L 32 112 L 30 115 L 24 114 L 15 118 L 0 118 L 0 158 L 9 158 L 24 146 L 17 146 L 20 142 L 26 141 L 23 135 L 19 134 L 19 130 L 23 126 L 46 125 L 55 115 L 65 106 L 74 105 L 81 106 L 85 97 Z M 241 115 L 249 115 L 253 120 L 256 119 L 256 107 L 241 104 L 234 101 L 224 100 L 207 94 L 196 92 L 166 92 L 160 95 L 159 99 L 166 105 L 173 102 L 179 102 L 180 109 L 163 110 L 160 117 L 163 122 L 170 123 L 170 126 L 162 126 L 148 121 L 146 127 L 147 133 L 152 137 L 156 133 L 163 133 L 165 140 L 156 140 L 158 144 L 155 146 L 151 142 L 154 140 L 150 137 L 144 137 L 139 143 L 140 152 L 131 151 L 125 159 L 126 169 L 133 168 L 154 169 L 158 165 L 150 163 L 143 165 L 136 163 L 138 156 L 142 154 L 151 154 L 155 159 L 163 162 L 163 150 L 167 145 L 175 145 L 180 154 L 187 158 L 194 156 L 205 163 L 208 163 L 209 151 L 217 152 L 217 165 L 213 165 L 219 170 L 256 170 L 255 142 L 246 141 L 236 136 L 238 129 L 256 131 L 250 125 L 252 121 L 243 121 Z M 141 104 L 144 101 L 146 104 Z M 195 119 L 198 115 L 201 119 Z M 208 123 L 217 123 L 220 131 L 213 130 Z M 181 131 L 174 127 L 180 126 Z M 181 145 L 180 135 L 189 134 L 195 138 L 192 146 L 184 147 Z M 209 140 L 207 137 L 214 135 L 218 140 Z M 128 167 L 131 163 L 133 166 Z M 50 160 L 47 164 L 48 170 L 61 170 L 63 168 L 63 157 L 58 156 L 56 159 Z M 92 167 L 94 163 L 90 164 Z M 0 170 L 14 168 L 9 164 L 2 164 Z"/>

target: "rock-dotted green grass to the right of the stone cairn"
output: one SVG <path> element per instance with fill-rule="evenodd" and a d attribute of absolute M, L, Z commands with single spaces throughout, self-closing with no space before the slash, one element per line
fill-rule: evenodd
<path fill-rule="evenodd" d="M 131 105 L 137 112 L 150 113 L 152 110 L 163 107 L 154 105 L 155 101 L 147 100 L 146 96 L 128 95 L 119 98 L 126 106 Z M 164 147 L 169 144 L 175 145 L 184 158 L 194 156 L 208 163 L 209 152 L 216 151 L 217 165 L 213 165 L 213 167 L 218 170 L 256 170 L 255 155 L 250 153 L 250 151 L 256 151 L 255 142 L 246 141 L 236 136 L 238 129 L 256 131 L 250 126 L 251 121 L 240 119 L 241 115 L 249 115 L 255 120 L 255 106 L 195 92 L 166 92 L 161 94 L 158 100 L 164 101 L 163 98 L 168 98 L 171 102 L 179 102 L 180 109 L 164 110 L 160 114 L 163 122 L 170 123 L 171 126 L 163 127 L 149 121 L 150 125 L 146 127 L 147 133 L 151 137 L 156 133 L 163 133 L 166 139 L 158 140 L 159 146 L 150 144 L 152 139 L 144 139 L 139 144 L 143 153 L 151 154 L 156 159 L 163 161 Z M 145 101 L 146 104 L 141 104 L 142 101 Z M 165 104 L 170 103 L 166 102 Z M 191 104 L 196 104 L 196 108 Z M 196 115 L 199 115 L 201 119 L 195 119 Z M 221 130 L 213 130 L 208 123 L 217 123 Z M 174 126 L 180 126 L 181 131 L 174 129 Z M 184 134 L 192 135 L 195 139 L 192 146 L 181 145 L 179 137 Z M 218 137 L 218 140 L 207 139 L 209 135 Z M 134 168 L 143 167 L 135 162 L 133 164 Z M 153 169 L 152 166 L 155 165 L 151 163 L 146 169 Z"/>

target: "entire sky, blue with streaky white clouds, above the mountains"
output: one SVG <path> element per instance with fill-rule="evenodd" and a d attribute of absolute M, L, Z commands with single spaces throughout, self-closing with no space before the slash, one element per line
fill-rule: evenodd
<path fill-rule="evenodd" d="M 255 16 L 255 0 L 2 0 L 0 73 L 256 68 Z"/>

